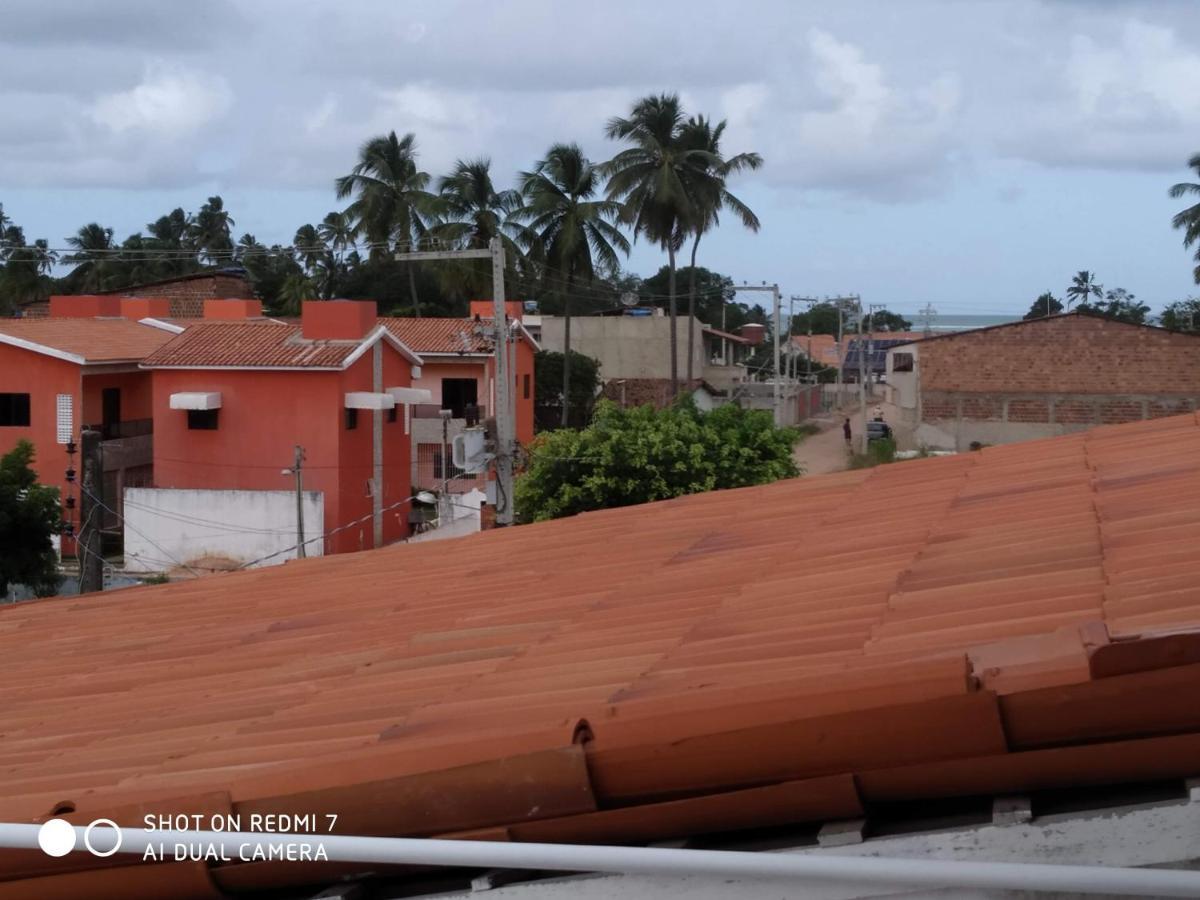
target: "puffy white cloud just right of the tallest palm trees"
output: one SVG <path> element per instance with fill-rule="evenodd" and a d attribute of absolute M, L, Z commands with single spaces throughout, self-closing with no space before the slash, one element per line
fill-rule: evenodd
<path fill-rule="evenodd" d="M 938 190 L 958 139 L 958 79 L 889 80 L 862 48 L 809 32 L 799 65 L 721 95 L 730 150 L 754 149 L 778 184 L 896 199 Z"/>

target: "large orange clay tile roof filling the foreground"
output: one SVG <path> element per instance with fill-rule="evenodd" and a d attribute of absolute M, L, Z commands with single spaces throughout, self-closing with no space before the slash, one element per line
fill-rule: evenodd
<path fill-rule="evenodd" d="M 1198 540 L 1188 415 L 8 606 L 0 810 L 637 842 L 1192 775 Z"/>

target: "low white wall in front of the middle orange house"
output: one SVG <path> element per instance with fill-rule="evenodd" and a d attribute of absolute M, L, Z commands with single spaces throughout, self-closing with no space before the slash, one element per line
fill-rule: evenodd
<path fill-rule="evenodd" d="M 304 493 L 305 539 L 320 535 L 325 496 Z M 270 556 L 262 565 L 294 559 L 296 499 L 293 491 L 186 491 L 161 487 L 125 490 L 125 569 L 158 572 L 175 562 L 205 569 L 234 569 Z M 324 541 L 305 544 L 310 557 Z"/>

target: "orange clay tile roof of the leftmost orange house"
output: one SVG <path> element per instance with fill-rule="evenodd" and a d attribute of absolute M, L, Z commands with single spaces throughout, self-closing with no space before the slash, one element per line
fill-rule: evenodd
<path fill-rule="evenodd" d="M 0 318 L 0 342 L 36 344 L 30 349 L 73 358 L 82 365 L 140 361 L 172 337 L 169 331 L 130 319 Z"/>

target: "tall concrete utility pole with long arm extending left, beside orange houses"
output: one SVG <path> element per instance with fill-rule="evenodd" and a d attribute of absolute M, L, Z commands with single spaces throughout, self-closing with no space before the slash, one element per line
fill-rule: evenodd
<path fill-rule="evenodd" d="M 492 238 L 487 250 L 422 250 L 397 252 L 397 262 L 491 259 L 496 335 L 496 524 L 512 524 L 512 457 L 516 450 L 515 385 L 509 365 L 509 325 L 504 306 L 504 244 Z"/>

